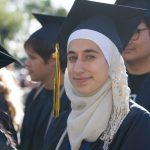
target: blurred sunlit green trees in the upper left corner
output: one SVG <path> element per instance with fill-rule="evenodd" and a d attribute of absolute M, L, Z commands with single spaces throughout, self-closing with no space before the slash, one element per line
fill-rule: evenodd
<path fill-rule="evenodd" d="M 67 14 L 64 8 L 52 7 L 51 0 L 0 0 L 0 43 L 19 58 L 25 55 L 24 41 L 32 29 L 36 30 L 33 12 L 60 16 Z"/>

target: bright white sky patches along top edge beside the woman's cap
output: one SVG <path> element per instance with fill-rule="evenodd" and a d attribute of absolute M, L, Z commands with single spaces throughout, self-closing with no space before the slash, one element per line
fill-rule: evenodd
<path fill-rule="evenodd" d="M 95 0 L 102 3 L 114 4 L 116 0 Z M 64 7 L 67 11 L 70 10 L 74 0 L 51 0 L 54 7 Z"/>

